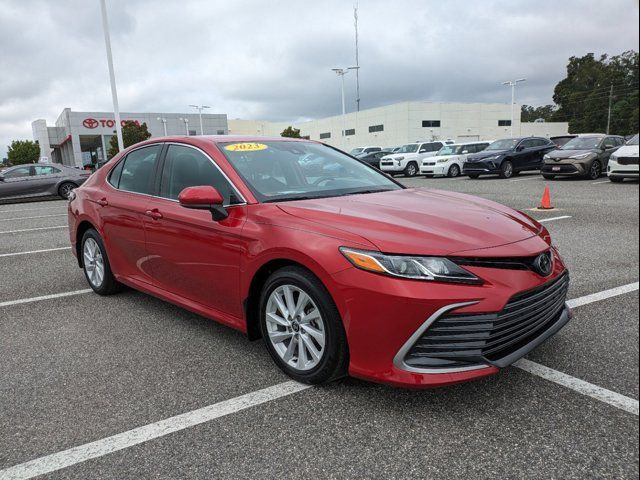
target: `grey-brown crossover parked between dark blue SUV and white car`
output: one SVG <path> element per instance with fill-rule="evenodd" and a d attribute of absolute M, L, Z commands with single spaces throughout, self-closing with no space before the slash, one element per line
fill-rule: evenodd
<path fill-rule="evenodd" d="M 544 157 L 542 176 L 583 177 L 596 180 L 607 171 L 609 157 L 624 145 L 618 135 L 581 135 Z"/>

